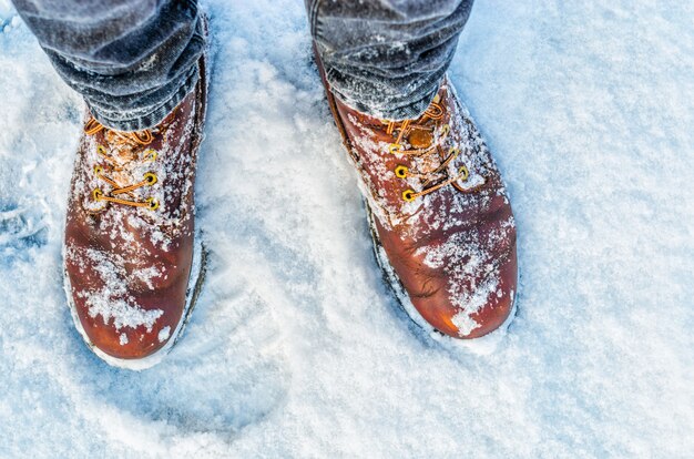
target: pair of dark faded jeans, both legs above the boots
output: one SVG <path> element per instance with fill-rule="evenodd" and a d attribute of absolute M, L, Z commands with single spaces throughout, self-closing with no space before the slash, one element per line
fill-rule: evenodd
<path fill-rule="evenodd" d="M 195 0 L 13 0 L 62 79 L 108 128 L 159 124 L 195 86 Z M 450 64 L 472 0 L 306 0 L 333 92 L 381 119 L 418 116 Z"/>

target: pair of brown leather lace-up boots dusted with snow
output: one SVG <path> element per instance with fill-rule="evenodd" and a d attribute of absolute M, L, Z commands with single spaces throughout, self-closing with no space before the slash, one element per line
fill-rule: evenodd
<path fill-rule="evenodd" d="M 316 57 L 319 70 L 320 62 Z M 194 183 L 207 69 L 157 126 L 119 132 L 89 116 L 68 206 L 65 289 L 86 344 L 111 365 L 155 365 L 181 336 L 205 274 Z M 322 71 L 323 75 L 323 71 Z M 497 166 L 445 79 L 416 120 L 378 120 L 323 82 L 359 172 L 377 261 L 404 309 L 469 339 L 510 317 L 516 225 Z"/>

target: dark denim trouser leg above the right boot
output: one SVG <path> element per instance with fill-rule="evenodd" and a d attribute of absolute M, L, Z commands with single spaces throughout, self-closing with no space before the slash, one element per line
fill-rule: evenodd
<path fill-rule="evenodd" d="M 419 116 L 448 69 L 473 0 L 306 0 L 333 92 L 371 116 Z"/>

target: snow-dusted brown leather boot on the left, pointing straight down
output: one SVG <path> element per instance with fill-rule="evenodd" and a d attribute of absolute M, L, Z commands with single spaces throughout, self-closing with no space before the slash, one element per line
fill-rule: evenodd
<path fill-rule="evenodd" d="M 159 363 L 202 285 L 193 187 L 204 58 L 200 72 L 197 86 L 154 129 L 118 132 L 86 116 L 68 204 L 65 289 L 78 330 L 114 366 Z"/>

